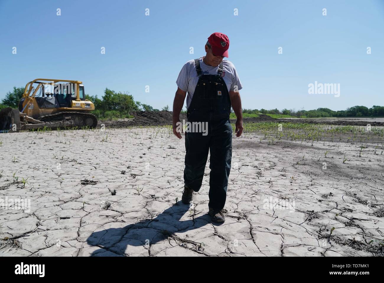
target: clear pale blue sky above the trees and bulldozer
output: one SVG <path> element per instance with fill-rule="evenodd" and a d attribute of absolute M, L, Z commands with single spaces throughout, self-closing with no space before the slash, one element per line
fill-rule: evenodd
<path fill-rule="evenodd" d="M 384 105 L 383 0 L 0 0 L 0 27 L 0 99 L 36 78 L 73 79 L 90 95 L 108 87 L 172 108 L 184 63 L 204 55 L 211 33 L 223 32 L 243 108 Z M 340 97 L 308 94 L 315 81 L 339 83 Z"/>

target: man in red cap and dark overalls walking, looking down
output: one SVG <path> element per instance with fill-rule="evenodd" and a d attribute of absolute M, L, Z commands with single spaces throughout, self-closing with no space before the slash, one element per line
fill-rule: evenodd
<path fill-rule="evenodd" d="M 202 132 L 185 132 L 185 169 L 182 203 L 192 201 L 193 192 L 202 185 L 205 164 L 210 151 L 209 215 L 214 222 L 224 222 L 223 208 L 227 197 L 228 176 L 232 159 L 231 105 L 236 114 L 236 136 L 243 131 L 240 93 L 242 84 L 235 66 L 228 60 L 229 39 L 212 33 L 205 44 L 206 55 L 190 60 L 177 78 L 173 105 L 173 132 L 181 139 L 180 111 L 187 95 L 187 121 L 207 125 Z M 199 124 L 200 125 L 200 124 Z"/>

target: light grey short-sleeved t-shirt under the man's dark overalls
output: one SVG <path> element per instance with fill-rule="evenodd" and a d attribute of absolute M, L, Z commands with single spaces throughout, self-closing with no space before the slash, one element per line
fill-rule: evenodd
<path fill-rule="evenodd" d="M 207 75 L 217 75 L 218 66 L 212 67 L 203 62 L 203 57 L 199 58 L 201 73 Z M 228 60 L 223 60 L 223 74 L 222 78 L 227 85 L 228 92 L 230 90 L 237 90 L 243 88 L 240 79 L 237 75 L 235 65 Z M 195 60 L 189 60 L 182 67 L 179 77 L 177 77 L 176 84 L 177 86 L 184 91 L 188 92 L 187 95 L 187 107 L 189 107 L 190 102 L 192 101 L 193 93 L 195 91 L 197 82 L 199 81 L 199 76 L 196 72 Z"/>

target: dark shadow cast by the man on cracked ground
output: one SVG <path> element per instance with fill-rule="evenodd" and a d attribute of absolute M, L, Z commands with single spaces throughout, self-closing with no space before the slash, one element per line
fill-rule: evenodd
<path fill-rule="evenodd" d="M 189 205 L 179 201 L 157 215 L 156 218 L 143 219 L 138 223 L 129 224 L 122 228 L 109 228 L 93 232 L 88 237 L 87 243 L 91 246 L 99 246 L 100 249 L 93 251 L 91 256 L 103 256 L 105 251 L 111 251 L 116 256 L 123 256 L 128 246 L 132 246 L 132 250 L 135 246 L 149 246 L 166 239 L 175 232 L 186 232 L 210 223 L 210 216 L 207 214 L 180 221 L 188 210 Z M 201 211 L 199 214 L 201 213 L 203 212 Z"/>

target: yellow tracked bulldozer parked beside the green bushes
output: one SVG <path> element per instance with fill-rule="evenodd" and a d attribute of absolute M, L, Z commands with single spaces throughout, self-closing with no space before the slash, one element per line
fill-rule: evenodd
<path fill-rule="evenodd" d="M 85 99 L 84 85 L 78 80 L 35 79 L 25 86 L 18 109 L 0 111 L 0 131 L 15 132 L 42 127 L 89 127 L 97 118 L 89 111 L 94 104 Z"/>

